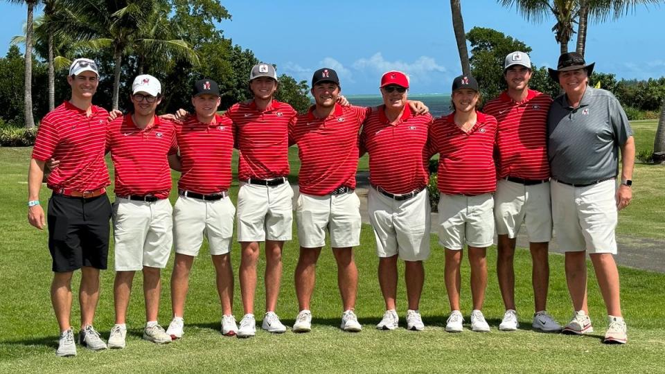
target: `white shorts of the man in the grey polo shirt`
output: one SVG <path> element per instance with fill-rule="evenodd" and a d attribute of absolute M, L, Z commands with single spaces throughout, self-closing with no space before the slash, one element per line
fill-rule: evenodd
<path fill-rule="evenodd" d="M 567 252 L 617 253 L 617 181 L 587 187 L 552 182 L 552 218 L 558 246 Z"/>

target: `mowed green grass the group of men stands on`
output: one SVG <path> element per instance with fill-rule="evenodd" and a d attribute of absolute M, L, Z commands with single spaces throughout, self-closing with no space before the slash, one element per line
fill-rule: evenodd
<path fill-rule="evenodd" d="M 296 150 L 292 150 L 292 156 Z M 258 330 L 256 337 L 237 339 L 220 332 L 220 305 L 214 289 L 214 271 L 206 249 L 195 261 L 186 305 L 183 339 L 157 346 L 141 340 L 145 317 L 141 276 L 134 281 L 127 319 L 127 348 L 91 352 L 78 347 L 78 356 L 55 357 L 57 324 L 48 295 L 51 283 L 51 258 L 46 247 L 46 231 L 37 231 L 26 219 L 26 180 L 30 148 L 0 148 L 0 373 L 16 372 L 665 372 L 665 274 L 620 268 L 623 312 L 628 322 L 629 341 L 625 346 L 601 344 L 607 322 L 605 308 L 589 267 L 589 308 L 596 332 L 585 337 L 542 334 L 531 330 L 533 294 L 528 251 L 515 255 L 517 310 L 521 328 L 499 332 L 503 314 L 499 294 L 494 247 L 488 250 L 489 285 L 484 312 L 492 331 L 488 334 L 469 330 L 469 268 L 462 269 L 462 305 L 465 331 L 450 334 L 443 330 L 449 312 L 443 285 L 443 249 L 432 237 L 432 256 L 426 262 L 425 290 L 420 305 L 425 325 L 423 332 L 405 330 L 405 290 L 400 276 L 398 313 L 400 329 L 378 331 L 375 324 L 384 311 L 376 269 L 374 238 L 370 226 L 363 226 L 362 244 L 356 260 L 360 286 L 356 312 L 364 330 L 357 334 L 339 330 L 342 306 L 337 291 L 335 261 L 330 249 L 323 249 L 317 270 L 317 287 L 312 301 L 314 326 L 308 334 L 290 330 L 270 335 Z M 366 160 L 362 161 L 366 165 Z M 292 163 L 294 169 L 297 163 Z M 296 175 L 296 173 L 292 173 Z M 665 168 L 636 166 L 635 201 L 621 213 L 619 235 L 663 240 L 665 227 L 662 206 L 665 203 Z M 639 177 L 637 177 L 639 176 Z M 643 179 L 644 178 L 644 179 Z M 648 179 L 649 178 L 649 179 Z M 50 191 L 42 188 L 42 204 Z M 233 187 L 235 202 L 237 184 Z M 112 196 L 112 191 L 109 191 Z M 172 201 L 175 195 L 172 194 Z M 657 229 L 653 229 L 656 227 Z M 294 232 L 295 238 L 295 232 Z M 284 276 L 278 314 L 292 326 L 298 312 L 293 273 L 297 261 L 297 241 L 288 242 L 283 254 Z M 168 280 L 173 256 L 163 272 L 159 321 L 166 328 L 170 321 Z M 233 247 L 233 264 L 240 263 L 239 247 Z M 259 284 L 263 282 L 260 261 Z M 560 323 L 571 316 L 571 305 L 563 274 L 562 256 L 550 258 L 551 277 L 549 312 Z M 113 251 L 109 270 L 103 271 L 96 328 L 107 339 L 114 322 Z M 403 274 L 400 264 L 400 274 Z M 73 282 L 74 308 L 71 321 L 79 326 L 78 281 Z M 237 279 L 237 276 L 236 276 Z M 240 321 L 242 305 L 236 281 L 234 314 Z M 256 295 L 258 326 L 263 318 L 263 287 Z"/>

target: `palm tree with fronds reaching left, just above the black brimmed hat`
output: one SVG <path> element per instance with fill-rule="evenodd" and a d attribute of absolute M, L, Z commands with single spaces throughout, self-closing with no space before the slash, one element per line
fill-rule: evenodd
<path fill-rule="evenodd" d="M 573 24 L 578 17 L 580 0 L 497 0 L 502 6 L 522 13 L 527 21 L 540 23 L 548 15 L 553 15 L 556 24 L 552 27 L 560 53 L 568 52 L 568 42 L 575 30 Z"/>

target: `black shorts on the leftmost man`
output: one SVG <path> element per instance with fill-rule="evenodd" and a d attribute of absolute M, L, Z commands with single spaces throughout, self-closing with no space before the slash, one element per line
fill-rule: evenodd
<path fill-rule="evenodd" d="M 48 199 L 48 250 L 53 271 L 106 269 L 111 203 L 106 194 L 84 199 L 53 193 Z"/>

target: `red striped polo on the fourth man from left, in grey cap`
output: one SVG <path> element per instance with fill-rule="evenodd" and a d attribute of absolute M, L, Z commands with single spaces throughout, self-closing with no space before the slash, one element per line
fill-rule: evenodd
<path fill-rule="evenodd" d="M 238 179 L 272 179 L 289 175 L 289 122 L 296 111 L 272 100 L 265 110 L 237 103 L 225 113 L 236 127 Z"/>

